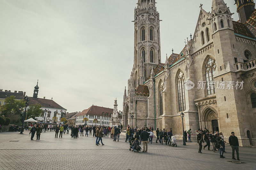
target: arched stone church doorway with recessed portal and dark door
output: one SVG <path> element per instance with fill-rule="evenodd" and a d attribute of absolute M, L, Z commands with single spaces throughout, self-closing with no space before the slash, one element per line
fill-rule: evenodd
<path fill-rule="evenodd" d="M 201 127 L 206 128 L 209 131 L 219 131 L 219 116 L 214 107 L 206 106 L 201 114 Z"/>

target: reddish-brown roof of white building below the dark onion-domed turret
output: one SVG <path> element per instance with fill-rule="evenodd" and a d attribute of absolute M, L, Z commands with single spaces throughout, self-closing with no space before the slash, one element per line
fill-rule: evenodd
<path fill-rule="evenodd" d="M 34 105 L 34 104 L 41 104 L 42 107 L 46 108 L 56 108 L 56 109 L 65 109 L 64 107 L 60 106 L 58 103 L 56 103 L 53 100 L 50 99 L 42 99 L 42 98 L 36 98 L 28 97 L 30 100 L 28 102 L 28 105 Z"/>

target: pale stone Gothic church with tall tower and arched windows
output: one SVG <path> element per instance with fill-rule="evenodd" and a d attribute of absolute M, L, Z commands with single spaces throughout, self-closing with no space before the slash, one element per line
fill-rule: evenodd
<path fill-rule="evenodd" d="M 160 19 L 155 0 L 134 9 L 134 64 L 124 90 L 124 127 L 235 132 L 241 146 L 256 145 L 256 10 L 236 0 L 239 21 L 223 0 L 200 12 L 195 32 L 180 52 L 161 63 Z M 132 113 L 135 115 L 132 124 Z"/>

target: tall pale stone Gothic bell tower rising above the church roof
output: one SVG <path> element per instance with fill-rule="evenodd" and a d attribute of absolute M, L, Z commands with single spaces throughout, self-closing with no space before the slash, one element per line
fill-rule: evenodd
<path fill-rule="evenodd" d="M 133 83 L 136 88 L 150 76 L 150 69 L 161 62 L 159 13 L 155 0 L 138 0 L 134 9 Z"/>

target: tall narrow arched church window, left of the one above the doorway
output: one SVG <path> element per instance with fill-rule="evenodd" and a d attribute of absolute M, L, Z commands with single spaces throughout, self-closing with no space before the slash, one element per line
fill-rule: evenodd
<path fill-rule="evenodd" d="M 178 75 L 177 75 L 179 112 L 186 110 L 184 79 L 185 79 L 184 73 L 180 70 Z"/>

